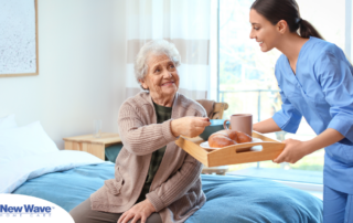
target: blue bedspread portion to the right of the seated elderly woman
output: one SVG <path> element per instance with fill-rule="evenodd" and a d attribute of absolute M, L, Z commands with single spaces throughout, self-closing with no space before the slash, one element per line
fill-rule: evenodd
<path fill-rule="evenodd" d="M 322 222 L 322 201 L 270 180 L 202 176 L 207 202 L 186 223 Z"/>

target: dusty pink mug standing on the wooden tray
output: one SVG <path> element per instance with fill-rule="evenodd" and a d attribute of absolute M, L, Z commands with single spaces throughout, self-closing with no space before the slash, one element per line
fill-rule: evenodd
<path fill-rule="evenodd" d="M 231 121 L 232 130 L 242 131 L 249 136 L 253 135 L 253 115 L 252 114 L 234 114 L 231 116 L 231 120 L 226 119 L 223 123 L 224 129 L 227 128 L 227 121 Z"/>

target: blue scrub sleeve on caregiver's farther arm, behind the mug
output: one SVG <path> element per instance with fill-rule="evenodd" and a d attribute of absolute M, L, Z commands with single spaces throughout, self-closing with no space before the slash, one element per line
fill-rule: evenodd
<path fill-rule="evenodd" d="M 279 85 L 278 85 L 279 86 Z M 280 88 L 280 86 L 279 86 Z M 301 120 L 301 113 L 287 99 L 285 93 L 280 91 L 282 98 L 282 109 L 278 110 L 272 119 L 285 131 L 296 134 Z"/>

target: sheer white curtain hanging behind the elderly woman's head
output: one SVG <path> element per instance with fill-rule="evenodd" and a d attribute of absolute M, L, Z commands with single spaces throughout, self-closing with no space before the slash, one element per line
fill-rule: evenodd
<path fill-rule="evenodd" d="M 133 61 L 150 40 L 175 44 L 181 55 L 179 92 L 193 99 L 207 98 L 210 75 L 211 0 L 128 0 L 126 97 L 140 92 Z"/>

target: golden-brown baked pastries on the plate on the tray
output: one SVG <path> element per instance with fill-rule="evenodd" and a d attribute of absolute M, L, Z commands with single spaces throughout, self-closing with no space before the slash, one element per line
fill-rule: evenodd
<path fill-rule="evenodd" d="M 253 138 L 242 131 L 221 130 L 212 134 L 208 138 L 208 145 L 213 148 L 222 148 L 236 144 L 250 142 Z"/>

